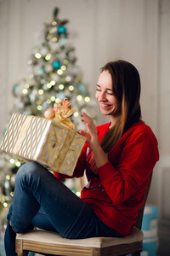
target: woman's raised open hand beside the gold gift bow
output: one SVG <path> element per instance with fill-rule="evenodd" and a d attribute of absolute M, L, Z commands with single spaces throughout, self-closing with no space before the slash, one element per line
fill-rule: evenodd
<path fill-rule="evenodd" d="M 82 123 L 87 126 L 88 131 L 80 130 L 80 134 L 86 138 L 87 143 L 89 144 L 92 151 L 95 147 L 99 147 L 98 131 L 94 125 L 93 119 L 91 119 L 88 114 L 82 113 L 81 115 Z"/>

